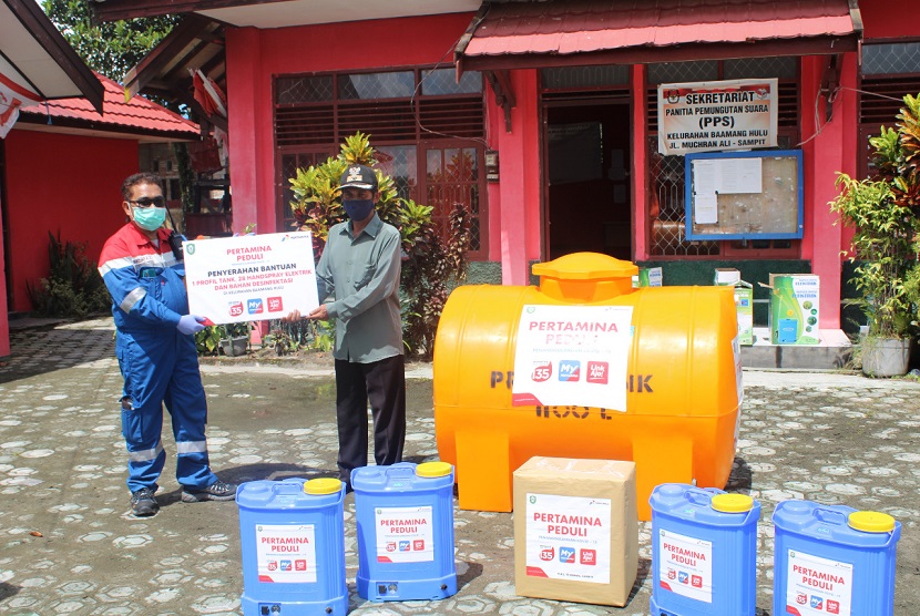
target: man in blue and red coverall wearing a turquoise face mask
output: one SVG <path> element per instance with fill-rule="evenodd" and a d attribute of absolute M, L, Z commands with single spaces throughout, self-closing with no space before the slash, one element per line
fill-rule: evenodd
<path fill-rule="evenodd" d="M 134 515 L 154 515 L 156 480 L 166 462 L 161 443 L 163 404 L 173 420 L 176 480 L 182 501 L 231 501 L 237 486 L 211 472 L 207 404 L 194 333 L 202 317 L 188 314 L 185 265 L 171 247 L 163 184 L 139 173 L 122 185 L 129 223 L 110 237 L 99 273 L 112 296 L 115 355 L 124 378 L 122 434 L 127 444 L 127 487 Z"/>

